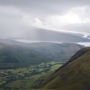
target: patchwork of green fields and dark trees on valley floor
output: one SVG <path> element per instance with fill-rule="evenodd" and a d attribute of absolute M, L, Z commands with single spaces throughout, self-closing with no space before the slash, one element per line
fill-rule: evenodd
<path fill-rule="evenodd" d="M 39 88 L 40 83 L 60 66 L 61 63 L 53 61 L 27 68 L 0 70 L 0 88 L 11 90 Z"/>

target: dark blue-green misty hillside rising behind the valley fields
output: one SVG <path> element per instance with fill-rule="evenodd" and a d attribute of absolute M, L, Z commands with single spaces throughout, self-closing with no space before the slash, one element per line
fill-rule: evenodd
<path fill-rule="evenodd" d="M 26 67 L 50 61 L 65 63 L 81 48 L 80 45 L 68 43 L 0 40 L 0 69 Z"/>

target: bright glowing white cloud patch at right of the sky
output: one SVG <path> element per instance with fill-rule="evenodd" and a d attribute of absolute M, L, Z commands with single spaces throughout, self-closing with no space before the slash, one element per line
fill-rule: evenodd
<path fill-rule="evenodd" d="M 90 33 L 90 16 L 87 16 L 86 12 L 88 8 L 90 7 L 74 7 L 63 15 L 36 18 L 34 26 L 63 32 Z"/>

